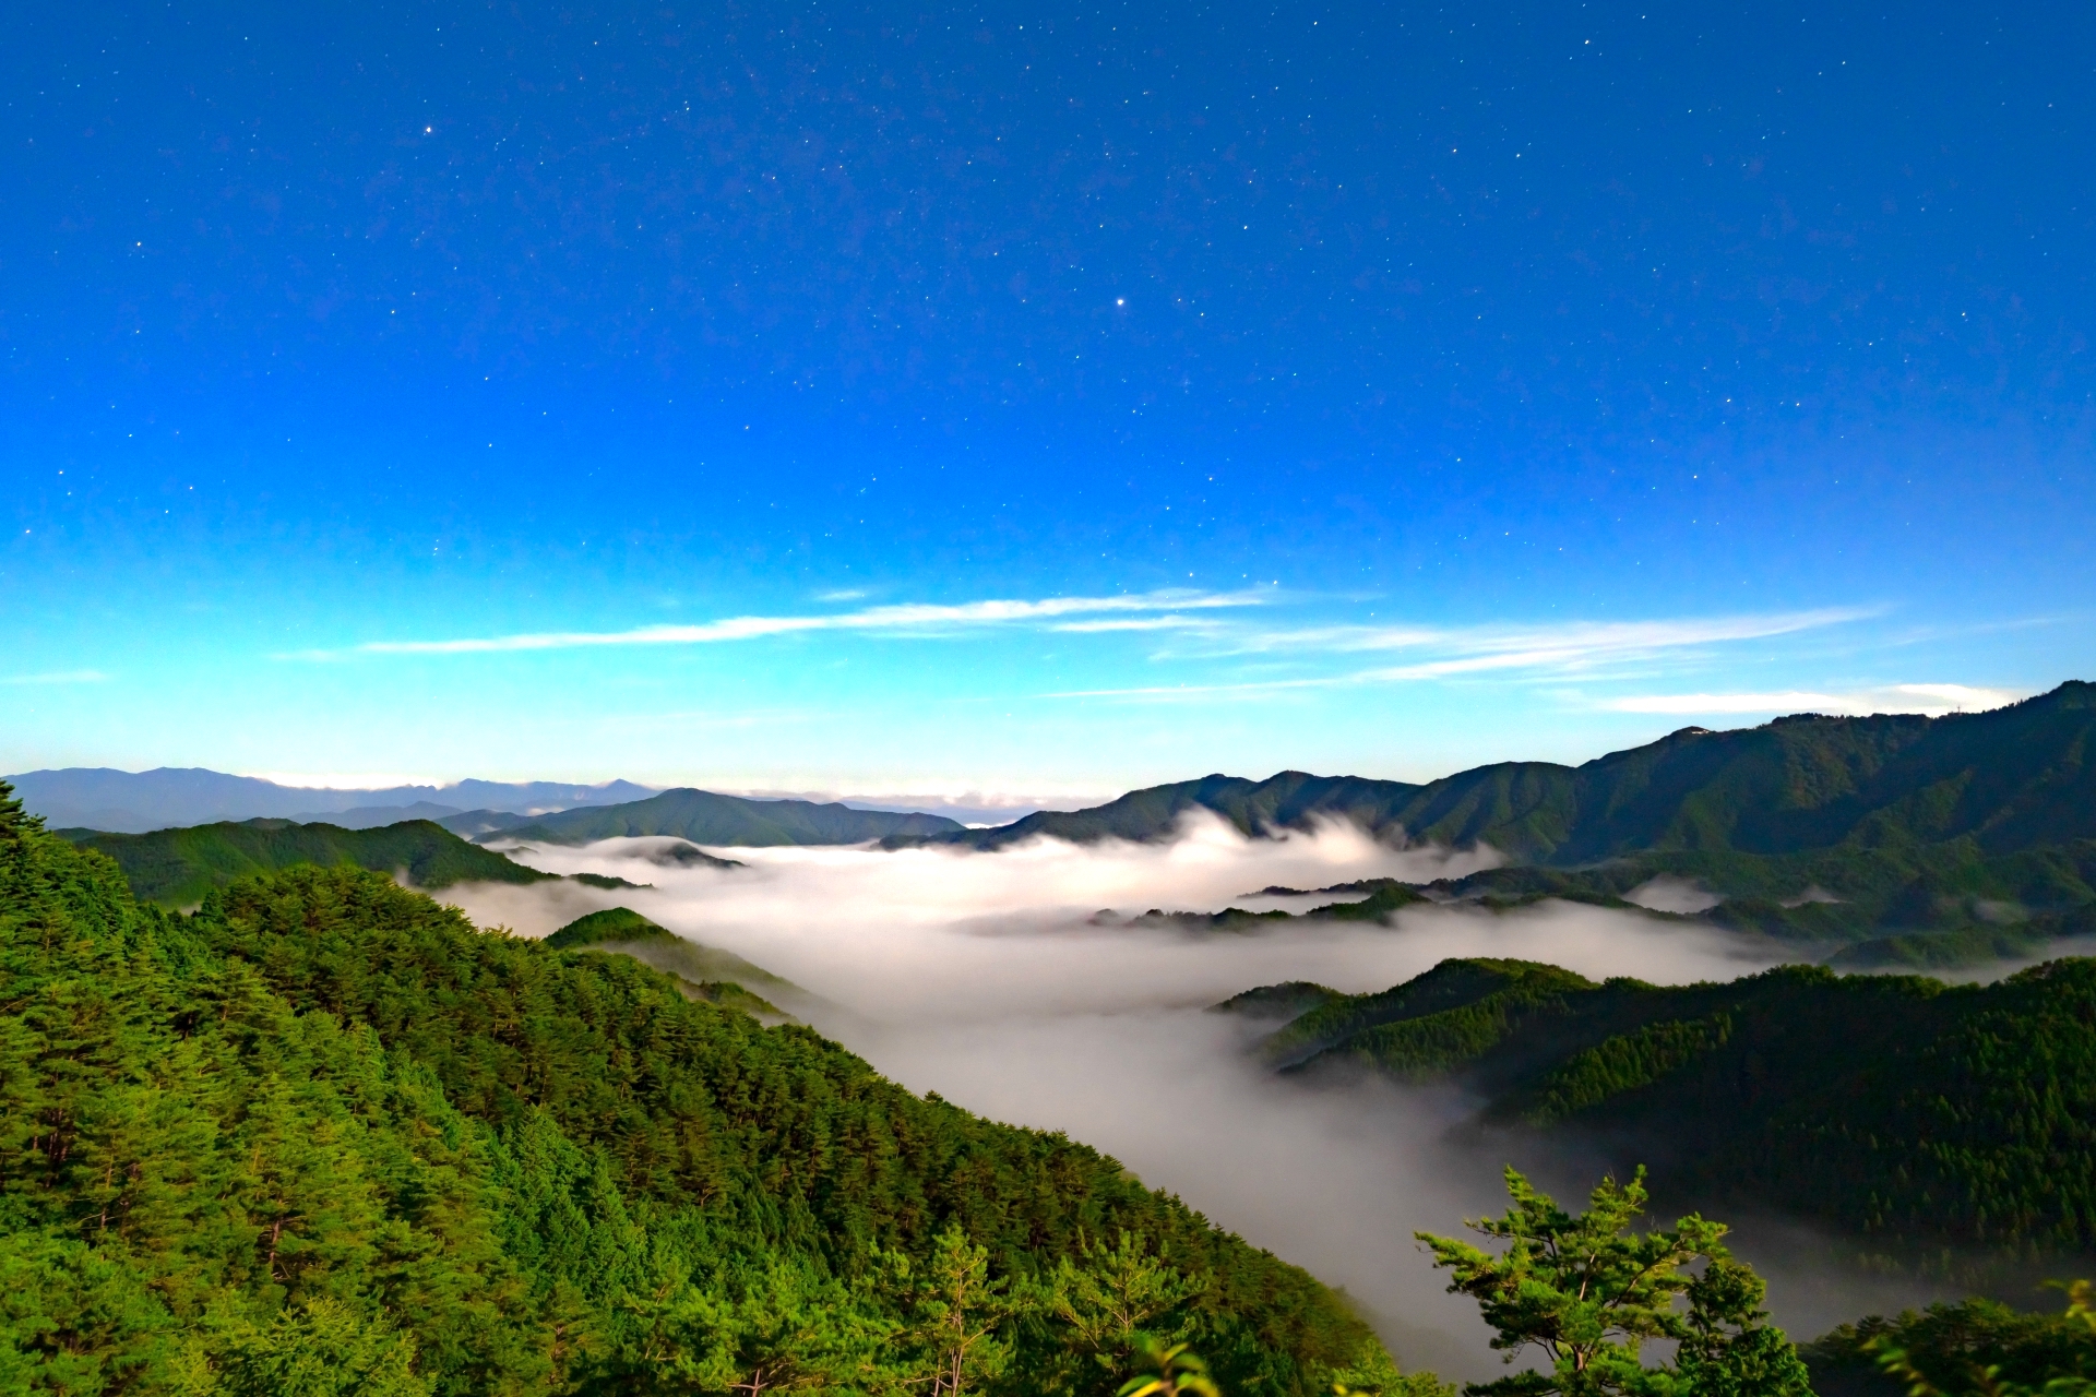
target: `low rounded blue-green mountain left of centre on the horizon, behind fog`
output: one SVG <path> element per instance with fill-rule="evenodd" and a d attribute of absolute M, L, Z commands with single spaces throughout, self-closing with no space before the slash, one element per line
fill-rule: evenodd
<path fill-rule="evenodd" d="M 864 844 L 889 836 L 939 836 L 958 829 L 962 825 L 943 815 L 855 811 L 813 800 L 744 800 L 679 788 L 631 804 L 562 811 L 476 838 L 484 844 L 499 840 L 589 844 L 620 836 L 673 834 L 694 844 L 765 848 L 778 844 Z"/>

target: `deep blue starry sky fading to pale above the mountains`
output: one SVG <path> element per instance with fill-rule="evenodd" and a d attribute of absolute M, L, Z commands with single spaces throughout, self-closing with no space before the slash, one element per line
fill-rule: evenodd
<path fill-rule="evenodd" d="M 1105 792 L 2088 677 L 2092 67 L 2067 4 L 31 6 L 0 769 Z"/>

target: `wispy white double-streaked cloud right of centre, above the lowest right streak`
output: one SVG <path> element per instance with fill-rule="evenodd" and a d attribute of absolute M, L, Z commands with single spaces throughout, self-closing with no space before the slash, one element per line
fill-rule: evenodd
<path fill-rule="evenodd" d="M 1463 674 L 1601 674 L 1614 666 L 1683 658 L 1712 645 L 1765 641 L 1876 616 L 1874 609 L 1780 612 L 1769 616 L 1717 616 L 1641 622 L 1566 622 L 1559 626 L 1320 626 L 1237 637 L 1222 656 L 1245 653 L 1362 653 L 1419 651 L 1409 664 L 1383 664 L 1344 674 L 1256 679 L 1211 685 L 1147 685 L 1134 689 L 1077 689 L 1044 697 L 1193 697 L 1383 685 Z M 1220 658 L 1220 656 L 1218 656 Z"/>

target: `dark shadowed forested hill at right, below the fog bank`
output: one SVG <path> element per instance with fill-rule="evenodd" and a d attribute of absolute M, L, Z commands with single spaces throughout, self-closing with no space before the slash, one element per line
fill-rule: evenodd
<path fill-rule="evenodd" d="M 1593 984 L 1453 959 L 1379 995 L 1274 986 L 1291 1072 L 1461 1081 L 1492 1125 L 1650 1162 L 1668 1204 L 1775 1206 L 1886 1242 L 2096 1250 L 2096 959 L 1997 984 L 1786 966 Z"/>

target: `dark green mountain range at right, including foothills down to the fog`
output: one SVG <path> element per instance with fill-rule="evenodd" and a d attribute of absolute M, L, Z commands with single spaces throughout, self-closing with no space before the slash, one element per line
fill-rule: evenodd
<path fill-rule="evenodd" d="M 1800 943 L 1836 963 L 1962 966 L 2096 934 L 2092 754 L 2096 685 L 2073 681 L 1981 714 L 1687 727 L 1582 767 L 1501 762 L 1425 785 L 1211 775 L 1090 811 L 887 844 L 1159 840 L 1193 811 L 1247 836 L 1346 819 L 1390 842 L 1490 844 L 1509 865 L 1419 888 L 1371 880 L 1352 888 L 1371 892 L 1369 903 L 1318 915 L 1385 915 L 1419 901 L 1629 909 L 1664 878 L 1721 899 L 1702 922 Z"/>

